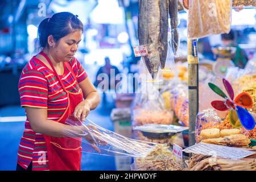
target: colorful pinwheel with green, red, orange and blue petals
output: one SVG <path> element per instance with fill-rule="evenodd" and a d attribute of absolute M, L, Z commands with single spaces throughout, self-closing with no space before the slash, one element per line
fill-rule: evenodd
<path fill-rule="evenodd" d="M 224 101 L 212 101 L 212 106 L 214 109 L 220 111 L 229 110 L 229 121 L 233 127 L 239 128 L 243 126 L 247 130 L 253 130 L 255 127 L 255 120 L 249 111 L 246 110 L 253 106 L 253 100 L 251 96 L 246 92 L 242 92 L 234 100 L 234 91 L 232 86 L 228 80 L 225 80 L 225 78 L 223 78 L 222 81 L 230 99 L 224 92 L 222 92 L 220 88 L 218 88 L 218 86 L 209 82 L 208 85 L 213 90 L 213 92 L 225 98 Z"/>

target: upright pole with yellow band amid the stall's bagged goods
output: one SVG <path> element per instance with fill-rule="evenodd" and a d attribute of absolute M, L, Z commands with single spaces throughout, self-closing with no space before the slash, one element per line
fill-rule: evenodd
<path fill-rule="evenodd" d="M 196 115 L 199 110 L 197 41 L 188 39 L 189 146 L 195 144 Z"/>

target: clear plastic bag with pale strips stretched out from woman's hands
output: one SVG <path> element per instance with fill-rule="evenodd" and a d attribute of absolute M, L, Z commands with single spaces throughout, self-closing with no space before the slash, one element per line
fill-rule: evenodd
<path fill-rule="evenodd" d="M 79 118 L 71 115 L 66 124 L 71 129 L 64 130 L 67 137 L 81 139 L 82 152 L 109 156 L 143 157 L 151 152 L 155 143 L 144 142 L 123 137 L 113 131 L 106 130 L 89 119 L 82 122 Z"/>

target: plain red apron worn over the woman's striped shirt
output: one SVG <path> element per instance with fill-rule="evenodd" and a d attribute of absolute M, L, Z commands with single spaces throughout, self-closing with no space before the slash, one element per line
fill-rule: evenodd
<path fill-rule="evenodd" d="M 55 68 L 52 65 L 49 57 L 44 53 L 40 52 L 40 55 L 44 56 L 48 63 L 51 65 L 55 76 L 59 80 L 62 88 L 67 93 L 68 96 L 68 106 L 64 114 L 58 119 L 57 122 L 65 123 L 66 119 L 71 115 L 75 107 L 83 100 L 82 91 L 80 89 L 79 93 L 71 93 L 65 89 L 63 82 L 61 81 L 59 75 L 57 74 Z M 71 72 L 72 76 L 76 78 L 73 69 L 68 63 L 64 63 Z M 49 171 L 80 171 L 81 170 L 81 138 L 76 140 L 69 137 L 50 137 L 44 135 L 46 140 L 47 155 L 49 160 Z"/>

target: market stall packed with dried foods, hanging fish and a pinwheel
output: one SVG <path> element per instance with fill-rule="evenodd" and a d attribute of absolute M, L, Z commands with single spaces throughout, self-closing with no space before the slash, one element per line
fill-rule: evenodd
<path fill-rule="evenodd" d="M 173 64 L 174 57 L 170 58 L 170 51 L 176 56 L 179 49 L 178 1 L 139 2 L 139 44 L 146 47 L 139 56 L 146 68 L 143 73 L 146 70 L 151 78 L 141 82 L 142 86 L 150 85 L 150 89 L 135 96 L 133 138 L 162 145 L 158 144 L 147 156 L 134 159 L 131 168 L 255 170 L 255 61 L 245 69 L 234 67 L 230 58 L 234 49 L 217 47 L 214 51 L 218 61 L 200 64 L 197 45 L 199 38 L 228 33 L 232 8 L 251 8 L 255 1 L 179 3 L 188 11 L 187 65 Z M 164 22 L 168 13 L 169 32 L 168 23 Z M 151 98 L 152 94 L 157 97 Z M 177 131 L 174 126 L 187 128 Z M 168 132 L 170 127 L 172 131 Z M 174 142 L 178 134 L 182 144 Z M 183 160 L 176 144 L 184 149 Z"/>

